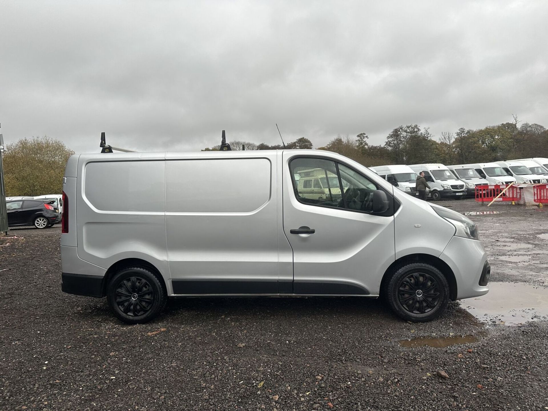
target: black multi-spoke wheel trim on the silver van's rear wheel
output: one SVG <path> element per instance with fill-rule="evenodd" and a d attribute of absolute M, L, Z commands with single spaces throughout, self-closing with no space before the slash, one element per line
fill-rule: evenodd
<path fill-rule="evenodd" d="M 145 278 L 139 276 L 124 278 L 118 283 L 115 300 L 118 309 L 125 315 L 143 316 L 154 304 L 154 290 Z"/>

